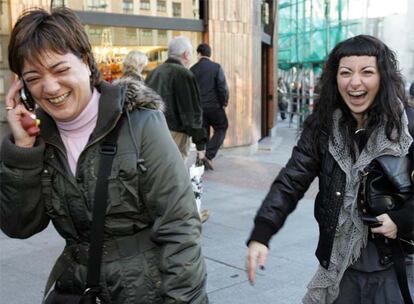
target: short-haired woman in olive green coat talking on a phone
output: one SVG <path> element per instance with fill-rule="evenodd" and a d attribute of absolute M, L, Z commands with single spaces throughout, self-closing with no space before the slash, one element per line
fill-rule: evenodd
<path fill-rule="evenodd" d="M 161 98 L 137 82 L 102 81 L 84 27 L 67 8 L 23 13 L 8 50 L 19 79 L 5 101 L 12 134 L 0 152 L 0 227 L 28 238 L 52 222 L 65 239 L 46 303 L 91 293 L 96 191 L 108 191 L 101 275 L 92 286 L 99 303 L 207 303 L 201 223 Z M 38 137 L 22 125 L 23 84 L 38 106 Z M 115 129 L 116 147 L 107 149 Z M 111 152 L 109 186 L 97 189 L 99 163 Z"/>

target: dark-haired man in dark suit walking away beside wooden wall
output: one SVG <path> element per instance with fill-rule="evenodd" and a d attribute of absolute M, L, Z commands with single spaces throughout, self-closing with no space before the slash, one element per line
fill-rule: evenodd
<path fill-rule="evenodd" d="M 220 64 L 210 59 L 211 47 L 207 43 L 201 43 L 197 47 L 197 54 L 198 62 L 190 70 L 200 89 L 203 127 L 207 134 L 206 157 L 203 162 L 206 170 L 213 170 L 212 160 L 223 144 L 229 126 L 224 110 L 228 104 L 229 90 Z M 211 138 L 210 128 L 214 130 Z"/>

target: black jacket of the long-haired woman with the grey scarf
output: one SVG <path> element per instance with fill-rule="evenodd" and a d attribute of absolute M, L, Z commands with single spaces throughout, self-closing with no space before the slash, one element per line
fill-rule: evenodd
<path fill-rule="evenodd" d="M 413 134 L 414 109 L 406 110 Z M 309 126 L 293 148 L 292 156 L 279 172 L 255 217 L 255 226 L 248 240 L 268 246 L 269 240 L 283 226 L 286 217 L 296 208 L 315 177 L 319 178 L 319 192 L 315 199 L 314 215 L 319 225 L 316 256 L 328 268 L 332 253 L 339 211 L 343 204 L 346 176 L 328 150 L 328 134 L 319 127 L 317 114 L 312 114 Z M 319 130 L 319 139 L 313 133 Z M 411 151 L 411 149 L 410 149 Z M 410 152 L 414 162 L 413 153 Z M 398 227 L 398 233 L 413 229 L 414 200 L 407 201 L 403 209 L 389 211 L 388 215 Z"/>

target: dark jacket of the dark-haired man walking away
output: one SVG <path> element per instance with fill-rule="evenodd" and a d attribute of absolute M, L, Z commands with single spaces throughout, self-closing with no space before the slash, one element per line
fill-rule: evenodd
<path fill-rule="evenodd" d="M 202 57 L 190 70 L 196 77 L 203 109 L 227 106 L 229 91 L 223 69 L 218 63 Z"/>

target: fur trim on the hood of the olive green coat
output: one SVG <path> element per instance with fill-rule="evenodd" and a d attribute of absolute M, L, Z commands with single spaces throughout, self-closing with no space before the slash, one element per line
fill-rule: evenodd
<path fill-rule="evenodd" d="M 113 84 L 126 88 L 125 106 L 128 111 L 144 108 L 164 112 L 165 105 L 161 96 L 142 81 L 127 76 L 115 80 Z"/>

